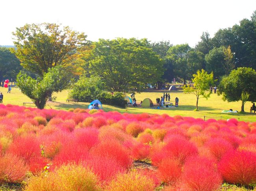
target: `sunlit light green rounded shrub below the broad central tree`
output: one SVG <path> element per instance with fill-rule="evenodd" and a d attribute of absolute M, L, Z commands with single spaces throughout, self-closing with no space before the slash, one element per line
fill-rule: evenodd
<path fill-rule="evenodd" d="M 69 96 L 82 102 L 91 102 L 96 96 L 105 89 L 105 83 L 101 78 L 91 76 L 80 76 L 80 79 L 74 84 Z"/>

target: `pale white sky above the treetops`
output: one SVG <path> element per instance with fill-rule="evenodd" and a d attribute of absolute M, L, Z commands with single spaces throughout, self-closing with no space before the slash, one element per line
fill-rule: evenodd
<path fill-rule="evenodd" d="M 256 0 L 4 0 L 0 45 L 11 32 L 32 23 L 58 23 L 85 32 L 87 39 L 148 38 L 194 47 L 203 31 L 239 24 L 256 10 Z"/>

